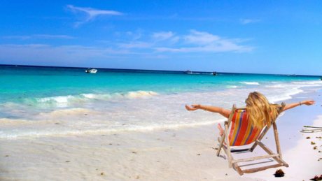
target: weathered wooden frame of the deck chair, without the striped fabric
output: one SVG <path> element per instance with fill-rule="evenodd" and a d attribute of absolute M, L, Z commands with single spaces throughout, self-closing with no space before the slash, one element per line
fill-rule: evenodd
<path fill-rule="evenodd" d="M 279 108 L 279 110 L 277 111 L 278 115 L 283 111 L 283 108 L 285 106 L 286 106 L 285 103 L 281 103 L 281 108 Z M 269 150 L 269 148 L 260 141 L 260 140 L 262 140 L 262 138 L 264 138 L 265 134 L 269 130 L 269 128 L 267 128 L 267 126 L 265 127 L 264 130 L 262 130 L 262 132 L 260 133 L 260 136 L 258 137 L 257 140 L 255 140 L 255 143 L 253 144 L 253 146 L 251 148 L 241 149 L 241 150 L 230 150 L 230 140 L 228 138 L 229 137 L 228 128 L 230 126 L 230 123 L 232 122 L 232 117 L 234 116 L 236 110 L 245 110 L 245 109 L 246 109 L 246 107 L 236 108 L 235 104 L 234 104 L 234 106 L 232 106 L 232 111 L 230 112 L 228 122 L 225 122 L 225 132 L 223 133 L 223 136 L 218 137 L 218 141 L 219 141 L 220 145 L 218 147 L 217 156 L 219 156 L 219 154 L 221 152 L 221 148 L 223 148 L 223 150 L 225 151 L 225 153 L 228 156 L 229 167 L 234 168 L 235 171 L 237 171 L 237 173 L 239 173 L 239 175 L 243 175 L 244 173 L 255 173 L 258 171 L 264 171 L 268 168 L 276 168 L 279 166 L 288 167 L 288 164 L 286 164 L 286 162 L 283 161 L 283 159 L 282 159 L 281 146 L 279 145 L 279 133 L 277 132 L 277 126 L 276 126 L 276 122 L 275 122 L 276 120 L 272 120 L 272 125 L 273 125 L 273 129 L 274 129 L 274 137 L 275 137 L 277 154 L 274 154 L 274 152 L 272 152 L 272 150 Z M 223 144 L 224 140 L 225 140 L 227 146 Z M 260 156 L 260 157 L 251 157 L 251 158 L 247 158 L 247 159 L 234 159 L 232 157 L 232 152 L 245 152 L 245 151 L 253 152 L 253 150 L 255 149 L 255 147 L 257 145 L 262 147 L 262 149 L 265 150 L 265 152 L 267 152 L 268 155 Z M 272 166 L 262 166 L 259 168 L 251 168 L 251 169 L 246 169 L 246 170 L 241 170 L 241 168 L 237 165 L 238 162 L 253 161 L 253 160 L 257 160 L 257 159 L 267 159 L 267 158 L 273 158 L 279 164 L 274 164 Z"/>

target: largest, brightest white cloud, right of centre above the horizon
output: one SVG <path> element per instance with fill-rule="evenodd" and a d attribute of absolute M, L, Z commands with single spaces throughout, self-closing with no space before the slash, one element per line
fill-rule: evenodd
<path fill-rule="evenodd" d="M 169 31 L 153 33 L 153 37 L 156 39 L 155 41 L 133 41 L 117 45 L 118 48 L 152 49 L 157 52 L 251 52 L 254 49 L 251 46 L 239 45 L 249 39 L 228 39 L 196 30 L 190 30 L 190 34 L 185 36 L 174 36 L 174 33 Z M 162 41 L 167 39 L 169 41 Z M 182 43 L 177 43 L 179 40 L 183 40 Z"/>

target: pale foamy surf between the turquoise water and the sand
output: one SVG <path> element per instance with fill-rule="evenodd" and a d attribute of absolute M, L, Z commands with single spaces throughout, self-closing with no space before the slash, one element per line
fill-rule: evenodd
<path fill-rule="evenodd" d="M 19 118 L 16 119 L 20 121 L 15 122 L 12 118 L 2 120 L 3 125 L 6 124 L 6 129 L 0 131 L 0 138 L 146 131 L 213 124 L 221 122 L 223 117 L 199 110 L 188 112 L 184 106 L 201 103 L 231 109 L 234 103 L 237 107 L 245 106 L 244 101 L 249 92 L 254 91 L 264 94 L 271 103 L 281 103 L 283 100 L 292 99 L 292 95 L 303 92 L 301 87 L 311 85 L 314 85 L 316 89 L 321 88 L 320 82 L 316 84 L 293 82 L 281 84 L 279 82 L 277 85 L 230 88 L 217 92 L 162 95 L 155 92 L 137 91 L 124 94 L 80 94 L 64 98 L 56 96 L 39 99 L 40 101 L 36 102 L 38 107 L 3 103 L 0 104 L 0 110 L 3 113 L 18 116 Z M 46 108 L 47 105 L 53 107 Z M 59 124 L 55 124 L 56 122 Z"/>

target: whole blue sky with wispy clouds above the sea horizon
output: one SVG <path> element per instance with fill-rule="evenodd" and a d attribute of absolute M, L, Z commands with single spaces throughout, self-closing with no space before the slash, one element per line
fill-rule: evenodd
<path fill-rule="evenodd" d="M 0 64 L 322 75 L 322 1 L 1 1 Z"/>

